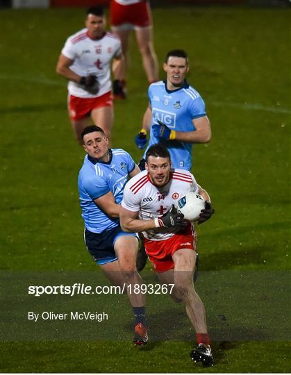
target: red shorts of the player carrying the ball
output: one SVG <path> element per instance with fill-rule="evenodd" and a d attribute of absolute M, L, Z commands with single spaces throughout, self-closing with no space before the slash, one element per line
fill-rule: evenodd
<path fill-rule="evenodd" d="M 197 234 L 192 226 L 188 226 L 184 233 L 177 233 L 168 240 L 152 241 L 144 238 L 144 247 L 149 260 L 156 272 L 165 272 L 174 268 L 172 255 L 180 249 L 195 251 L 197 245 Z"/>

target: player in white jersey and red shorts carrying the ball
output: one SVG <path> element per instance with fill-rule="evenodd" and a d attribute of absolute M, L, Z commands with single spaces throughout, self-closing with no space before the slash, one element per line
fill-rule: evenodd
<path fill-rule="evenodd" d="M 169 151 L 162 144 L 152 145 L 146 155 L 146 169 L 126 183 L 120 223 L 128 232 L 142 232 L 149 260 L 162 283 L 174 283 L 174 301 L 183 300 L 187 315 L 197 333 L 197 349 L 190 354 L 194 361 L 213 365 L 210 339 L 203 303 L 193 286 L 196 258 L 194 226 L 183 219 L 174 203 L 194 191 L 208 201 L 200 222 L 213 215 L 210 197 L 194 176 L 183 169 L 171 169 Z"/>

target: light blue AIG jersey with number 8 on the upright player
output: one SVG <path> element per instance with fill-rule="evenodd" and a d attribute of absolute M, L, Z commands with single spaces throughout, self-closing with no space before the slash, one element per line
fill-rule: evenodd
<path fill-rule="evenodd" d="M 194 131 L 192 119 L 206 116 L 203 99 L 188 83 L 177 90 L 169 91 L 166 83 L 159 81 L 149 86 L 148 94 L 152 113 L 151 125 L 158 124 L 157 120 L 160 120 L 174 131 Z M 151 133 L 147 149 L 154 143 L 163 143 L 167 147 L 174 168 L 191 169 L 192 144 L 155 138 Z"/>

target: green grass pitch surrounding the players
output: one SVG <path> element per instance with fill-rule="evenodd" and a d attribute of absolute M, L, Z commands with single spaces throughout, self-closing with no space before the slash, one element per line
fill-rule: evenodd
<path fill-rule="evenodd" d="M 144 350 L 130 342 L 126 297 L 96 301 L 110 313 L 112 338 L 103 338 L 105 323 L 72 325 L 70 336 L 66 326 L 26 321 L 31 308 L 78 303 L 28 298 L 28 282 L 57 285 L 62 274 L 78 272 L 89 285 L 105 282 L 83 245 L 76 187 L 83 151 L 67 118 L 65 80 L 55 73 L 63 42 L 83 26 L 82 12 L 0 11 L 1 372 L 290 372 L 289 9 L 153 10 L 160 65 L 169 49 L 188 51 L 189 81 L 213 128 L 210 144 L 194 147 L 193 172 L 216 209 L 199 228 L 197 284 L 215 367 L 190 362 L 194 333 L 183 306 L 167 297 L 148 298 L 153 340 Z M 128 100 L 115 103 L 113 146 L 138 161 L 133 135 L 147 107 L 147 82 L 134 38 L 131 44 Z M 149 265 L 144 275 L 156 281 Z M 81 300 L 79 310 L 88 306 L 93 299 Z"/>

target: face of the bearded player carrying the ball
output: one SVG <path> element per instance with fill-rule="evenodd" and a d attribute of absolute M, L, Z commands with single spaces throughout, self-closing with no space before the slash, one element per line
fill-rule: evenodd
<path fill-rule="evenodd" d="M 149 172 L 149 177 L 151 178 L 153 185 L 160 188 L 168 183 L 169 171 L 171 169 L 169 158 L 156 158 L 155 156 L 149 156 L 145 167 Z"/>

